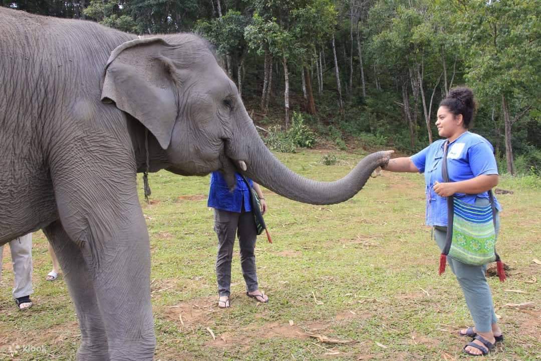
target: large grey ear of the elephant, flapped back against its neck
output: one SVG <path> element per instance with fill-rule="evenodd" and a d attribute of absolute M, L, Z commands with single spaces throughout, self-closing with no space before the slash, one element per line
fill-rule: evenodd
<path fill-rule="evenodd" d="M 161 55 L 174 45 L 161 38 L 143 38 L 119 45 L 105 65 L 102 101 L 140 121 L 163 149 L 169 147 L 179 101 L 173 64 Z"/>

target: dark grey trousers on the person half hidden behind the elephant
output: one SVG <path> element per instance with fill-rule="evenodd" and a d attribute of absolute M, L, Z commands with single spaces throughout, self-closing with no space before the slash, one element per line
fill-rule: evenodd
<path fill-rule="evenodd" d="M 252 212 L 229 212 L 214 209 L 214 231 L 218 235 L 218 255 L 216 257 L 216 277 L 220 296 L 229 296 L 231 286 L 231 261 L 235 234 L 239 235 L 240 264 L 246 282 L 246 290 L 258 289 L 258 276 L 255 272 L 255 240 L 257 238 Z"/>

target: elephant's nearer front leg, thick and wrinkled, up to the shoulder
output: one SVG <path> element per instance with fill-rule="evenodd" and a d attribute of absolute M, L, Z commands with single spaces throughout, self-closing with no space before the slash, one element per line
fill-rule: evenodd
<path fill-rule="evenodd" d="M 51 168 L 58 214 L 94 281 L 110 360 L 151 361 L 150 246 L 135 162 L 129 148 L 108 140 L 101 138 L 105 154 L 82 146 L 59 153 Z"/>

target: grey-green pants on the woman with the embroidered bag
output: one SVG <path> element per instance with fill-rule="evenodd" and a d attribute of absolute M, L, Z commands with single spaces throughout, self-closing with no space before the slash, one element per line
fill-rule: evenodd
<path fill-rule="evenodd" d="M 481 198 L 476 200 L 476 205 L 485 206 L 489 200 Z M 496 233 L 500 227 L 499 214 L 496 213 Z M 434 236 L 440 250 L 445 247 L 445 238 L 447 227 L 434 227 Z M 470 266 L 460 261 L 447 257 L 447 263 L 456 275 L 458 283 L 464 293 L 466 305 L 470 310 L 473 323 L 478 332 L 490 332 L 492 324 L 498 322 L 496 313 L 494 313 L 494 304 L 489 284 L 485 278 L 486 265 Z"/>

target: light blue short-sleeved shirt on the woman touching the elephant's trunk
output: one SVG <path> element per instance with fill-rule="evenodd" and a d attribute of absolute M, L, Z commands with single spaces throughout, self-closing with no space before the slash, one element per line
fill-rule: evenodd
<path fill-rule="evenodd" d="M 433 142 L 430 146 L 411 156 L 411 160 L 420 173 L 425 174 L 426 225 L 447 226 L 447 198 L 434 192 L 436 181 L 443 183 L 441 164 L 446 139 Z M 494 148 L 484 137 L 470 132 L 461 134 L 448 146 L 447 173 L 451 182 L 475 178 L 478 175 L 498 174 Z M 479 194 L 455 193 L 460 200 L 475 204 L 476 198 L 489 198 L 489 192 Z M 496 198 L 494 203 L 498 211 L 502 210 Z"/>

